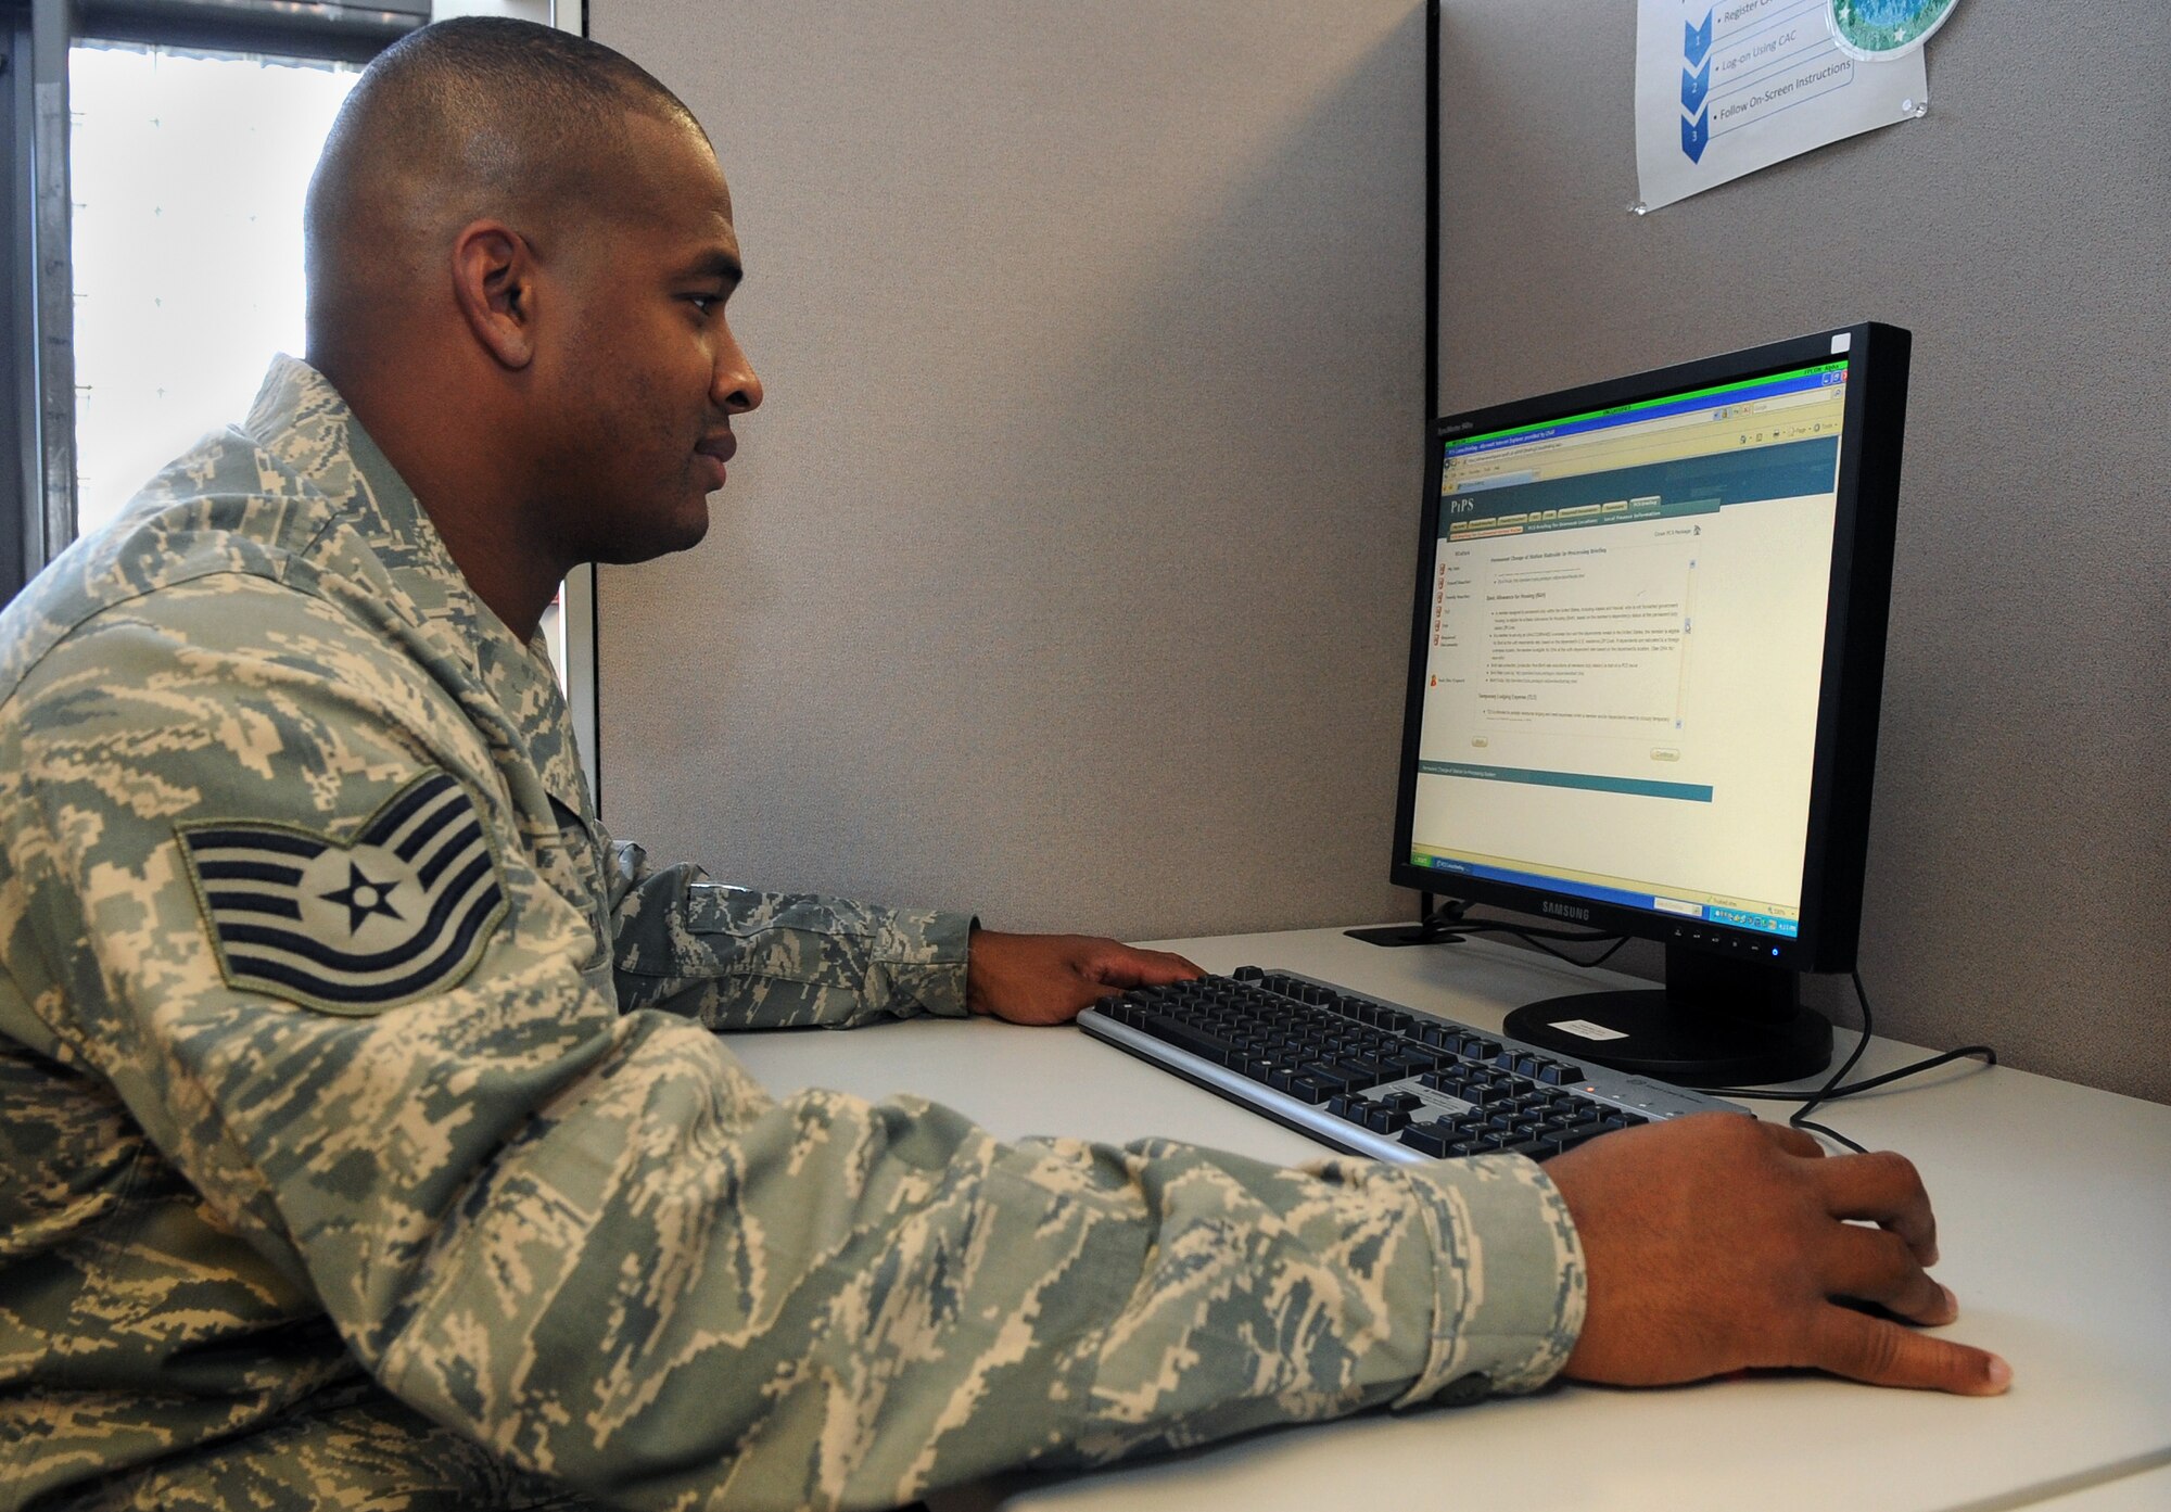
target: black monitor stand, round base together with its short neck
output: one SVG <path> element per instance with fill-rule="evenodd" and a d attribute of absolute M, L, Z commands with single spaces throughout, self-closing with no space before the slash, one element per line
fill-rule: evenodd
<path fill-rule="evenodd" d="M 1832 1021 L 1798 997 L 1800 975 L 1665 947 L 1665 986 L 1524 1004 L 1505 1032 L 1572 1060 L 1678 1086 L 1798 1082 L 1832 1062 Z"/>

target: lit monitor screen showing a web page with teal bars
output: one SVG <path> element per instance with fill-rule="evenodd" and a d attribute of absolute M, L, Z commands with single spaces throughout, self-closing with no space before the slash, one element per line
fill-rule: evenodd
<path fill-rule="evenodd" d="M 1446 445 L 1413 865 L 1798 934 L 1845 382 Z"/>

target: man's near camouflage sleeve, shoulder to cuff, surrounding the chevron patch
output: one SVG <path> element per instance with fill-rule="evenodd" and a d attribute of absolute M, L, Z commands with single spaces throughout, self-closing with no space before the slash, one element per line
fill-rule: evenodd
<path fill-rule="evenodd" d="M 430 1419 L 612 1505 L 888 1508 L 1565 1360 L 1580 1251 L 1520 1158 L 1287 1171 L 764 1095 L 619 1012 L 441 689 L 297 595 L 193 591 L 26 684 L 0 925 L 67 1051 Z M 176 826 L 323 828 L 432 769 L 497 836 L 473 969 L 373 1012 L 232 986 Z"/>

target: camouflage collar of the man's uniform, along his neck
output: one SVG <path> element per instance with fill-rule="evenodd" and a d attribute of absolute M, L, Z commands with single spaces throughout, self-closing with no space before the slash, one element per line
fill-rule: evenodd
<path fill-rule="evenodd" d="M 573 752 L 564 695 L 541 634 L 519 637 L 469 587 L 445 537 L 399 469 L 378 448 L 332 380 L 308 363 L 271 358 L 243 430 L 282 467 L 323 495 L 341 524 L 384 563 L 406 613 L 512 715 L 545 789 L 586 815 L 586 782 Z"/>

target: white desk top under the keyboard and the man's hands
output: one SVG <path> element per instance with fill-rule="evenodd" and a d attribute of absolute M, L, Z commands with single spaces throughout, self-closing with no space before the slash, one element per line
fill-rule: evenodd
<path fill-rule="evenodd" d="M 1481 1028 L 1522 1001 L 1628 982 L 1505 945 L 1381 949 L 1337 930 L 1164 945 L 1209 971 L 1285 967 Z M 921 1093 L 1010 1138 L 1170 1134 L 1268 1160 L 1322 1154 L 1077 1030 L 921 1021 L 729 1043 L 771 1088 Z M 1921 1054 L 1876 1041 L 1858 1073 Z M 1791 1106 L 1759 1110 L 1785 1117 Z M 1826 1121 L 1921 1169 L 1939 1210 L 1939 1277 L 1963 1308 L 1952 1336 L 2013 1362 L 2006 1397 L 1813 1377 L 1652 1393 L 1561 1386 L 981 1486 L 936 1508 L 1326 1512 L 1361 1495 L 1546 1512 L 1989 1512 L 2032 1501 L 2097 1512 L 2089 1497 L 2099 1495 L 2141 1497 L 2104 1501 L 2104 1512 L 2171 1512 L 2171 1471 L 2151 1469 L 2171 1466 L 2171 1108 L 1969 1067 L 1837 1104 Z M 2121 1471 L 2130 1484 L 2106 1479 Z"/>

